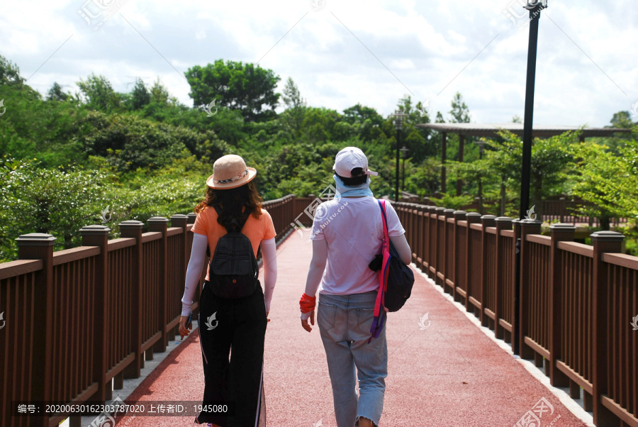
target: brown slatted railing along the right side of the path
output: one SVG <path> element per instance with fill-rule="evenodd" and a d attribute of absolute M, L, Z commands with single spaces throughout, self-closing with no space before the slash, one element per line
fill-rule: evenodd
<path fill-rule="evenodd" d="M 597 426 L 638 426 L 638 257 L 622 254 L 624 236 L 464 211 L 394 204 L 416 265 L 454 299 L 544 367 L 556 387 L 593 411 Z M 520 317 L 514 321 L 515 235 L 520 233 Z"/>

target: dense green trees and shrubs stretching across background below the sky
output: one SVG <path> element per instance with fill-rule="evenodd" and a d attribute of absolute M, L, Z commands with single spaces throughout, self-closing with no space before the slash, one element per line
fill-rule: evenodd
<path fill-rule="evenodd" d="M 95 74 L 79 79 L 77 94 L 54 82 L 43 96 L 0 56 L 6 108 L 0 117 L 0 260 L 16 257 L 14 239 L 24 233 L 52 233 L 57 248 L 78 245 L 79 228 L 103 222 L 105 211 L 113 236 L 119 221 L 186 214 L 203 199 L 213 162 L 228 153 L 257 169 L 264 199 L 319 194 L 332 184 L 336 153 L 348 145 L 364 150 L 370 169 L 379 172 L 371 179 L 376 196 L 394 196 L 397 149 L 403 146 L 401 188 L 418 196 L 440 192 L 442 138 L 418 125 L 446 119 L 410 96 L 397 102 L 406 114 L 397 131 L 393 116 L 370 106 L 342 112 L 308 106 L 292 78 L 280 95 L 279 76 L 257 65 L 217 60 L 191 67 L 186 77 L 194 107 L 181 104 L 159 79 L 151 85 L 135 79 L 130 92 L 120 93 Z M 276 113 L 280 96 L 285 109 Z M 211 115 L 201 107 L 213 99 Z M 470 120 L 461 94 L 450 105 L 450 121 Z M 601 220 L 632 219 L 627 232 L 635 230 L 638 126 L 622 111 L 612 126 L 634 126 L 634 132 L 586 144 L 578 143 L 578 133 L 534 141 L 537 211 L 539 200 L 566 193 L 590 202 L 589 214 Z M 461 208 L 474 199 L 480 182 L 487 199 L 502 199 L 503 213 L 517 216 L 522 143 L 509 133 L 483 142 L 481 160 L 468 138 L 464 162 L 447 162 L 449 179 L 463 179 L 467 194 L 432 200 Z M 458 153 L 459 139 L 449 135 L 447 158 Z M 500 213 L 496 204 L 486 207 Z"/>

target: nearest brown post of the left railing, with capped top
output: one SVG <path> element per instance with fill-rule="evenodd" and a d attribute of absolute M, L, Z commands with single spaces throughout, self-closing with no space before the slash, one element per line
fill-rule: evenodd
<path fill-rule="evenodd" d="M 44 233 L 23 234 L 16 239 L 18 259 L 42 260 L 42 270 L 35 273 L 36 292 L 33 306 L 33 355 L 31 365 L 30 400 L 50 401 L 52 372 L 50 357 L 53 348 L 53 245 L 55 237 Z M 48 426 L 48 417 L 33 417 L 31 426 Z"/>

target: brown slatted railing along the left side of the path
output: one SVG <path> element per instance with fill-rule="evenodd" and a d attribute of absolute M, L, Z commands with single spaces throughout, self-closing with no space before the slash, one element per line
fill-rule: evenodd
<path fill-rule="evenodd" d="M 293 196 L 264 203 L 278 241 L 297 206 Z M 20 260 L 0 264 L 0 426 L 57 426 L 69 414 L 11 416 L 11 402 L 109 400 L 111 380 L 121 389 L 166 350 L 177 334 L 194 220 L 150 218 L 147 233 L 144 223 L 124 221 L 114 240 L 106 226 L 86 226 L 81 247 L 57 252 L 52 235 L 17 239 Z M 78 416 L 71 421 L 79 425 Z"/>

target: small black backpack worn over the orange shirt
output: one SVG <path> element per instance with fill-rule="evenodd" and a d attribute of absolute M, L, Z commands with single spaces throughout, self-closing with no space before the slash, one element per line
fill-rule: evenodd
<path fill-rule="evenodd" d="M 213 206 L 220 214 L 219 206 Z M 208 284 L 216 296 L 222 298 L 245 298 L 252 295 L 259 284 L 259 267 L 254 257 L 252 243 L 243 234 L 247 216 L 233 222 L 217 242 L 208 270 Z"/>

